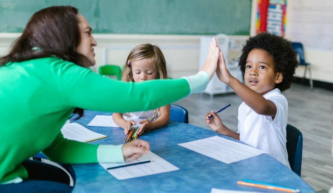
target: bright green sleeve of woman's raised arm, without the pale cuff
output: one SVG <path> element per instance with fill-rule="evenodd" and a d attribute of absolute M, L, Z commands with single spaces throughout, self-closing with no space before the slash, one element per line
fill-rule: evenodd
<path fill-rule="evenodd" d="M 122 82 L 71 62 L 55 66 L 69 107 L 93 111 L 136 112 L 155 109 L 190 94 L 186 79 Z"/>

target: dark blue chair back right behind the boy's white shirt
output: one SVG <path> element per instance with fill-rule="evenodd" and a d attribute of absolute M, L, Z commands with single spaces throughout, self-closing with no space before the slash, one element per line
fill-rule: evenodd
<path fill-rule="evenodd" d="M 288 161 L 296 174 L 301 176 L 303 135 L 294 126 L 287 124 L 287 152 Z"/>

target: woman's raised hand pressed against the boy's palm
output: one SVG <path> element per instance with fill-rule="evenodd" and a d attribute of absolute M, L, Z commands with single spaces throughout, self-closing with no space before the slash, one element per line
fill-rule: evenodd
<path fill-rule="evenodd" d="M 217 46 L 216 38 L 214 37 L 210 43 L 210 48 L 206 60 L 203 62 L 203 65 L 200 71 L 205 71 L 208 73 L 210 79 L 214 75 L 214 72 L 217 67 L 217 61 L 219 57 L 220 47 Z"/>

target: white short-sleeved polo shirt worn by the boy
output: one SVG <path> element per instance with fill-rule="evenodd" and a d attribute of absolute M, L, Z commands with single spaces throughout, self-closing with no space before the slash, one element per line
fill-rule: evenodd
<path fill-rule="evenodd" d="M 271 116 L 259 115 L 244 102 L 238 108 L 239 140 L 267 153 L 290 168 L 286 148 L 288 102 L 278 88 L 263 97 L 276 106 L 274 120 Z"/>

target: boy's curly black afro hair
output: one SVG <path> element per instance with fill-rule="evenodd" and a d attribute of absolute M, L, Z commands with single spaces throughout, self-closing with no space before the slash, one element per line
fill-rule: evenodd
<path fill-rule="evenodd" d="M 283 73 L 283 80 L 276 85 L 276 88 L 281 92 L 290 88 L 298 65 L 296 52 L 291 47 L 291 42 L 281 36 L 265 32 L 250 37 L 246 40 L 239 57 L 238 67 L 243 78 L 247 56 L 252 49 L 262 49 L 273 56 L 275 72 Z"/>

